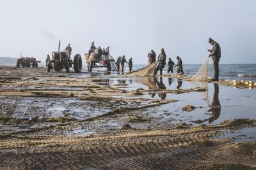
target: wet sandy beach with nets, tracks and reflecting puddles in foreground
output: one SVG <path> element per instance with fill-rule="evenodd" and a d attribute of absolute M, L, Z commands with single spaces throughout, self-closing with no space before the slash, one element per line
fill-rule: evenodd
<path fill-rule="evenodd" d="M 0 169 L 256 169 L 256 90 L 115 76 L 0 67 Z"/>

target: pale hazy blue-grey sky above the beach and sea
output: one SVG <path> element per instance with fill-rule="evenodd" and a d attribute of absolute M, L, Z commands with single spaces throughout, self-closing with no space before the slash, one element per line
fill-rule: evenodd
<path fill-rule="evenodd" d="M 203 64 L 220 43 L 220 64 L 256 63 L 255 0 L 0 0 L 0 56 L 36 57 L 68 43 L 84 56 L 92 41 L 116 59 L 147 64 L 164 48 L 173 60 Z M 84 60 L 83 60 L 84 61 Z"/>

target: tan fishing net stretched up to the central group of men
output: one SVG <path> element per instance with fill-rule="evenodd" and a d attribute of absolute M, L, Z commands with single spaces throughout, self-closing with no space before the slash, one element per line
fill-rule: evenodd
<path fill-rule="evenodd" d="M 132 73 L 126 73 L 126 74 L 120 75 L 119 77 L 153 76 L 156 66 L 157 66 L 157 62 L 154 62 L 147 67 L 143 67 L 142 69 L 138 69 L 137 71 L 133 71 Z"/>

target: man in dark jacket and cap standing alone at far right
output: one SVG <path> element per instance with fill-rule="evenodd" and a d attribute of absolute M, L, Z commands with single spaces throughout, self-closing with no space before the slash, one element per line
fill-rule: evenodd
<path fill-rule="evenodd" d="M 220 45 L 212 38 L 209 38 L 209 44 L 213 46 L 212 50 L 208 49 L 208 52 L 211 52 L 208 57 L 212 57 L 214 67 L 214 79 L 212 79 L 212 81 L 219 81 L 219 61 L 221 57 Z"/>

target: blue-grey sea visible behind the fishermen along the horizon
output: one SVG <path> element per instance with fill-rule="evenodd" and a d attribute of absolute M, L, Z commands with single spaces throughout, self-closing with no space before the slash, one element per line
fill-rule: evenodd
<path fill-rule="evenodd" d="M 146 67 L 146 64 L 134 64 L 134 70 L 141 69 Z M 193 76 L 197 71 L 202 67 L 202 64 L 183 64 L 183 70 L 185 74 Z M 128 71 L 128 67 L 125 68 L 125 71 Z M 168 66 L 164 67 L 164 73 L 167 73 Z M 256 82 L 256 64 L 220 64 L 220 78 L 223 80 L 244 80 L 244 81 L 253 81 Z M 177 68 L 174 68 L 173 71 L 177 71 Z M 213 65 L 209 64 L 209 76 L 214 76 Z"/>

